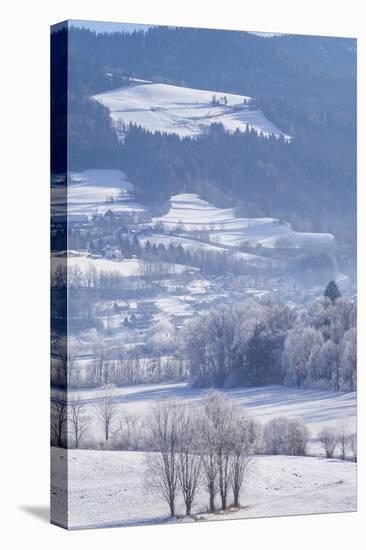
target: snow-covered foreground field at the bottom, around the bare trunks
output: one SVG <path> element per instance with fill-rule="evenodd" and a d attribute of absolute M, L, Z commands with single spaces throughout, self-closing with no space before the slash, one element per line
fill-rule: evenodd
<path fill-rule="evenodd" d="M 146 486 L 147 453 L 58 448 L 52 453 L 54 521 L 61 520 L 58 511 L 65 504 L 66 459 L 69 528 L 172 521 L 166 503 Z M 200 490 L 192 512 L 198 520 L 217 520 L 355 511 L 356 464 L 315 457 L 256 457 L 241 503 L 240 510 L 208 514 L 207 496 Z M 180 501 L 177 513 L 184 513 Z"/>

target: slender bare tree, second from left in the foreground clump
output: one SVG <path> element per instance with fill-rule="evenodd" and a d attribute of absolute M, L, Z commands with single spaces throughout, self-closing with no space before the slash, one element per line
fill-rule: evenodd
<path fill-rule="evenodd" d="M 198 452 L 196 417 L 188 407 L 181 407 L 178 414 L 178 482 L 183 494 L 187 516 L 200 481 L 201 455 Z"/>

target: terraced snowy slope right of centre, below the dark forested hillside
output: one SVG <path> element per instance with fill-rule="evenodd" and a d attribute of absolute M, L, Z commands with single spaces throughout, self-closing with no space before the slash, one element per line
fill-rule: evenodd
<path fill-rule="evenodd" d="M 330 233 L 299 233 L 276 218 L 236 218 L 235 209 L 217 208 L 194 193 L 171 197 L 167 214 L 153 218 L 153 222 L 167 229 L 179 226 L 187 232 L 206 230 L 213 243 L 232 247 L 246 241 L 270 248 L 319 248 L 334 243 Z"/>

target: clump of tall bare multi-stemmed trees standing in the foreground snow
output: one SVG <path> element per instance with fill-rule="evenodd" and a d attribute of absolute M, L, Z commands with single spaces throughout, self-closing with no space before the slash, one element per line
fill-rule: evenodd
<path fill-rule="evenodd" d="M 177 401 L 157 403 L 149 418 L 151 448 L 147 483 L 176 515 L 178 494 L 190 515 L 198 489 L 208 497 L 209 510 L 240 506 L 240 494 L 259 429 L 242 407 L 223 394 L 207 394 L 201 410 Z"/>

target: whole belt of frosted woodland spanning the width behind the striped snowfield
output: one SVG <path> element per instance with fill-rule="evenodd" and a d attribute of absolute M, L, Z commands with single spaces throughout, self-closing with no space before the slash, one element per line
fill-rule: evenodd
<path fill-rule="evenodd" d="M 53 345 L 52 383 L 98 387 L 189 377 L 201 387 L 285 384 L 354 391 L 357 384 L 356 305 L 342 297 L 314 302 L 301 316 L 273 298 L 247 299 L 212 309 L 177 331 L 152 325 L 143 349 L 116 339 L 91 342 L 91 358 L 65 338 Z"/>

